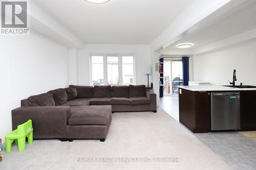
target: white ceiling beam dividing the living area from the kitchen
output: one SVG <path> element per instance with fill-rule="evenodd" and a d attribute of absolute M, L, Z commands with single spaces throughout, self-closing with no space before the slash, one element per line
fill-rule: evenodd
<path fill-rule="evenodd" d="M 196 0 L 151 42 L 152 50 L 161 51 L 191 33 L 202 30 L 231 12 L 252 3 L 250 0 Z"/>

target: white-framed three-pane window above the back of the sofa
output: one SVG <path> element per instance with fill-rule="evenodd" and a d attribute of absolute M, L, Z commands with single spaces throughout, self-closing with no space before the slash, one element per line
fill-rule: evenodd
<path fill-rule="evenodd" d="M 134 56 L 102 55 L 91 57 L 91 84 L 135 84 Z"/>

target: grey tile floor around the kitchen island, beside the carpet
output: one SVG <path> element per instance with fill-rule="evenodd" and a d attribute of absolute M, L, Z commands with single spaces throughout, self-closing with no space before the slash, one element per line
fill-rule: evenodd
<path fill-rule="evenodd" d="M 178 96 L 164 96 L 160 107 L 179 122 Z M 238 132 L 194 134 L 234 169 L 256 169 L 256 141 Z"/>

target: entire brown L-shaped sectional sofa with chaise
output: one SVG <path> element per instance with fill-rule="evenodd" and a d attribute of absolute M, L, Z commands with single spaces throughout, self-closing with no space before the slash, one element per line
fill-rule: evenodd
<path fill-rule="evenodd" d="M 104 141 L 112 112 L 156 112 L 156 94 L 144 85 L 75 86 L 33 95 L 12 110 L 12 128 L 32 119 L 34 138 Z"/>

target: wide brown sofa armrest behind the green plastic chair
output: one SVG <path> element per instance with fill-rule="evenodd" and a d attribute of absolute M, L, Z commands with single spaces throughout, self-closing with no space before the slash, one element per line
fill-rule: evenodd
<path fill-rule="evenodd" d="M 33 138 L 67 138 L 69 106 L 19 107 L 12 110 L 12 129 L 32 120 Z"/>

